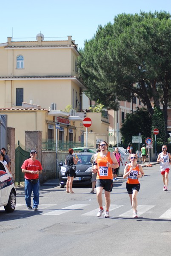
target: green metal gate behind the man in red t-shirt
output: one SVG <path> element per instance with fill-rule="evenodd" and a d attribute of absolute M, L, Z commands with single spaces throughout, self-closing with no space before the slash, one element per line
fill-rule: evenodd
<path fill-rule="evenodd" d="M 30 157 L 30 148 L 26 148 L 18 141 L 15 146 L 15 182 L 20 186 L 20 182 L 24 181 L 24 173 L 21 172 L 23 162 Z"/>

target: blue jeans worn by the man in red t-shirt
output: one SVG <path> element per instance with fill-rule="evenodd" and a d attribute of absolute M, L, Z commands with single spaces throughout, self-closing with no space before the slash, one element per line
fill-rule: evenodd
<path fill-rule="evenodd" d="M 29 180 L 25 179 L 25 200 L 26 205 L 31 205 L 31 192 L 33 191 L 33 207 L 39 204 L 39 180 L 37 183 L 31 183 Z"/>

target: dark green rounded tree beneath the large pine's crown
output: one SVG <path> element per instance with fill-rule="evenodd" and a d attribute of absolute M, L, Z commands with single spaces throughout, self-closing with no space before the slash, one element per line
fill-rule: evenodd
<path fill-rule="evenodd" d="M 127 113 L 120 129 L 123 144 L 128 145 L 132 141 L 132 136 L 142 135 L 142 144 L 147 137 L 151 137 L 152 119 L 149 112 L 144 108 L 137 109 L 133 113 Z"/>

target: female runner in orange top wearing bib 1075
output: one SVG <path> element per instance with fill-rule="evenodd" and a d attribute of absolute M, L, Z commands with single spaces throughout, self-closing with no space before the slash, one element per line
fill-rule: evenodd
<path fill-rule="evenodd" d="M 131 200 L 131 206 L 133 208 L 133 218 L 138 218 L 137 215 L 137 195 L 140 190 L 139 178 L 144 176 L 142 166 L 137 164 L 137 154 L 130 154 L 128 159 L 131 163 L 125 166 L 123 178 L 128 177 L 126 182 L 126 189 Z"/>

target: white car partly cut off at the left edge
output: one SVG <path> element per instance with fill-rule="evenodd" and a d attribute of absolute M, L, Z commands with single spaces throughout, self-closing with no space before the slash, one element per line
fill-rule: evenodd
<path fill-rule="evenodd" d="M 14 179 L 8 168 L 0 161 L 0 206 L 6 212 L 14 212 L 16 205 L 16 190 Z"/>

